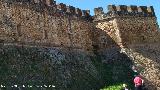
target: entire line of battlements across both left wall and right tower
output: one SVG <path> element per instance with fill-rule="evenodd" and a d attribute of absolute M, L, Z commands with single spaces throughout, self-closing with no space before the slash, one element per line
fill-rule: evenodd
<path fill-rule="evenodd" d="M 89 10 L 81 10 L 73 6 L 67 6 L 64 3 L 56 3 L 54 0 L 4 0 L 6 3 L 19 3 L 36 5 L 38 8 L 47 8 L 50 13 L 63 13 L 63 15 L 75 15 L 77 17 L 89 17 Z M 108 12 L 104 13 L 102 7 L 94 9 L 95 19 L 105 19 L 115 16 L 137 16 L 137 17 L 155 17 L 153 6 L 126 6 L 126 5 L 108 5 Z"/>

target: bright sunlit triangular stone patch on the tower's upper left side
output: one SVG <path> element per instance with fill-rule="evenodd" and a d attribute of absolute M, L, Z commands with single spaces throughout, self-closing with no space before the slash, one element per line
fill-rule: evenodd
<path fill-rule="evenodd" d="M 106 21 L 95 21 L 94 24 L 96 25 L 97 29 L 100 29 L 101 33 L 105 33 L 105 36 L 103 35 L 99 35 L 98 37 L 109 37 L 106 40 L 106 44 L 107 46 L 113 45 L 113 42 L 116 43 L 121 43 L 121 38 L 119 36 L 119 29 L 118 29 L 118 25 L 117 25 L 117 20 L 116 19 L 109 19 Z M 97 31 L 97 30 L 96 30 Z M 108 40 L 111 39 L 112 42 L 108 42 Z M 103 40 L 101 39 L 98 42 L 102 42 Z M 103 47 L 102 47 L 103 48 Z"/>

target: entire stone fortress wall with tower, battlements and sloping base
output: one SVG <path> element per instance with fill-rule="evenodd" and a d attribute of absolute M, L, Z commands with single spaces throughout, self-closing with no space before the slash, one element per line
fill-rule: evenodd
<path fill-rule="evenodd" d="M 108 5 L 107 13 L 94 11 L 91 16 L 53 0 L 0 0 L 1 84 L 97 89 L 102 78 L 91 57 L 99 56 L 106 64 L 118 62 L 113 80 L 126 73 L 115 68 L 134 65 L 149 90 L 158 90 L 160 34 L 153 7 Z"/>

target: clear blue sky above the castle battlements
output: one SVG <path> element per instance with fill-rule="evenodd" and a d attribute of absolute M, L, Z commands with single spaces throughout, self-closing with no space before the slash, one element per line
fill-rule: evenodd
<path fill-rule="evenodd" d="M 153 6 L 158 24 L 160 25 L 160 0 L 56 0 L 57 3 L 65 3 L 66 5 L 72 5 L 82 10 L 89 9 L 91 15 L 94 14 L 95 7 L 103 7 L 104 11 L 107 11 L 107 5 L 137 5 L 137 6 Z"/>

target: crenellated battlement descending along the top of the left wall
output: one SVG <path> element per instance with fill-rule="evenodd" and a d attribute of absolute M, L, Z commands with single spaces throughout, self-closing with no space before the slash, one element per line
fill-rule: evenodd
<path fill-rule="evenodd" d="M 47 10 L 50 10 L 50 13 L 63 13 L 63 15 L 74 15 L 77 17 L 90 17 L 90 11 L 89 10 L 81 10 L 79 8 L 73 7 L 73 6 L 67 6 L 64 3 L 56 3 L 54 0 L 5 0 L 5 3 L 9 4 L 28 4 L 28 5 L 34 5 L 36 8 L 47 8 Z M 34 7 L 34 9 L 35 9 Z"/>

